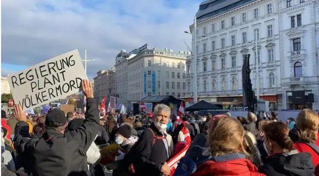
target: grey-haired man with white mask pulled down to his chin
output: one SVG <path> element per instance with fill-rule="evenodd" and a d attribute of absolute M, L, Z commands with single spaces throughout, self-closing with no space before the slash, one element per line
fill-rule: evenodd
<path fill-rule="evenodd" d="M 151 127 L 144 130 L 138 142 L 125 156 L 125 161 L 130 161 L 127 166 L 131 166 L 133 176 L 168 176 L 170 173 L 170 167 L 166 163 L 170 152 L 164 137 L 170 108 L 164 104 L 158 104 L 153 114 L 154 120 Z"/>

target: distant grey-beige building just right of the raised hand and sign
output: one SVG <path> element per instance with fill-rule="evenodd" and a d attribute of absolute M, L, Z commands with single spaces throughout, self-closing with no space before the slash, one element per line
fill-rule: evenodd
<path fill-rule="evenodd" d="M 116 96 L 115 93 L 115 68 L 100 70 L 94 79 L 94 97 L 100 103 L 107 96 L 106 103 L 110 96 Z"/>

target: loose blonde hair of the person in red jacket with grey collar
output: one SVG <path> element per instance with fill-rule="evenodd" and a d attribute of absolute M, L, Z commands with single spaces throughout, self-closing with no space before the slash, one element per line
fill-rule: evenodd
<path fill-rule="evenodd" d="M 221 117 L 214 120 L 208 133 L 212 157 L 238 152 L 249 157 L 243 146 L 244 135 L 244 128 L 233 118 Z"/>

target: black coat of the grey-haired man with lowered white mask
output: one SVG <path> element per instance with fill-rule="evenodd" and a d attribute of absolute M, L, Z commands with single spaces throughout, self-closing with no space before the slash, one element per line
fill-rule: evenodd
<path fill-rule="evenodd" d="M 154 123 L 151 129 L 156 136 L 163 136 Z M 151 130 L 145 129 L 138 142 L 128 153 L 129 155 L 125 156 L 124 160 L 132 161 L 136 170 L 135 176 L 160 176 L 161 167 L 168 160 L 163 140 L 157 139 L 152 147 L 153 139 Z"/>

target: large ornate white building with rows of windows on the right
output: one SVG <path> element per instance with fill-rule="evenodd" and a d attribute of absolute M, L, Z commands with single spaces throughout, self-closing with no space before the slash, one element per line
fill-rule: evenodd
<path fill-rule="evenodd" d="M 296 27 L 292 28 L 294 15 Z M 208 97 L 211 102 L 216 103 L 228 102 L 228 105 L 242 104 L 241 70 L 244 56 L 250 54 L 253 89 L 256 92 L 259 79 L 260 99 L 270 101 L 271 110 L 293 109 L 293 106 L 287 103 L 286 97 L 300 85 L 300 80 L 304 83 L 298 89 L 307 90 L 305 94 L 314 93 L 315 101 L 317 100 L 317 105 L 312 103 L 308 106 L 319 109 L 317 0 L 206 0 L 200 4 L 196 20 L 197 42 L 193 43 L 193 46 L 197 49 L 199 97 Z M 193 31 L 193 25 L 190 30 Z M 296 52 L 292 52 L 292 42 L 300 41 L 296 38 L 301 34 L 305 36 L 304 39 L 309 39 L 307 41 L 311 44 L 295 44 L 300 47 L 295 48 Z M 306 52 L 309 54 L 305 55 Z M 292 61 L 291 57 L 304 57 L 307 61 Z M 259 78 L 256 72 L 257 59 Z M 297 78 L 292 76 L 292 64 L 296 64 L 296 61 L 297 72 L 304 71 L 302 76 L 297 75 Z M 195 72 L 192 70 L 195 68 L 192 69 L 192 65 L 191 57 L 187 61 L 188 92 L 192 92 L 194 84 L 192 76 Z M 308 78 L 301 78 L 306 75 L 312 78 L 309 78 L 309 81 L 306 80 Z M 298 83 L 291 84 L 291 80 Z M 192 96 L 192 93 L 188 96 Z M 306 105 L 306 97 L 304 98 Z"/>

